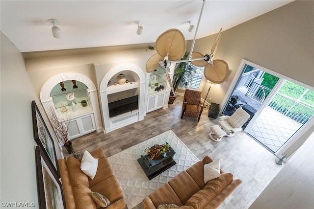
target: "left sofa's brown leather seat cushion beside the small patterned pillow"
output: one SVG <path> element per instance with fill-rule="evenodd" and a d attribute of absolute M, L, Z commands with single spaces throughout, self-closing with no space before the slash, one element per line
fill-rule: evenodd
<path fill-rule="evenodd" d="M 94 192 L 99 192 L 109 199 L 110 203 L 118 201 L 124 198 L 121 186 L 115 176 L 110 176 L 103 181 L 99 182 L 97 185 L 90 187 Z"/>

